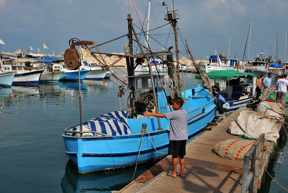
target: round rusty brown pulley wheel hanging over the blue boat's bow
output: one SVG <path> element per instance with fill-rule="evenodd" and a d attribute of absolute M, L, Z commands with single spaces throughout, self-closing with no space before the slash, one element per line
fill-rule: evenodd
<path fill-rule="evenodd" d="M 69 48 L 64 53 L 64 64 L 68 70 L 77 70 L 81 65 L 79 53 L 75 48 Z"/>

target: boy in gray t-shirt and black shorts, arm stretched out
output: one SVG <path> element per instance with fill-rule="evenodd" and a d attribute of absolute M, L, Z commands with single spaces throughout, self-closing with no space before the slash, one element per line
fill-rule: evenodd
<path fill-rule="evenodd" d="M 177 178 L 178 176 L 184 179 L 186 178 L 184 175 L 184 155 L 186 155 L 185 148 L 186 140 L 188 139 L 188 114 L 186 110 L 183 110 L 183 104 L 183 99 L 181 97 L 176 97 L 172 101 L 172 108 L 175 111 L 170 111 L 165 114 L 144 112 L 144 115 L 162 118 L 166 117 L 167 120 L 170 120 L 168 155 L 172 155 L 173 172 L 166 174 L 166 176 L 171 178 Z M 180 162 L 180 173 L 176 172 L 178 157 Z"/>

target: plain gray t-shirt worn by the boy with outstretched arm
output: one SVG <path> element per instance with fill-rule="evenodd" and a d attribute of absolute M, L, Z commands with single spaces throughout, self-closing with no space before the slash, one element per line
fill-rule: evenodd
<path fill-rule="evenodd" d="M 187 140 L 188 123 L 186 110 L 175 110 L 165 113 L 166 119 L 170 120 L 169 140 Z"/>

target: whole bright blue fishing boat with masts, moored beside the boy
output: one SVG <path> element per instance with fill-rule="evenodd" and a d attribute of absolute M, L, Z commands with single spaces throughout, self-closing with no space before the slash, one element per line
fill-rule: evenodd
<path fill-rule="evenodd" d="M 183 98 L 182 108 L 188 113 L 189 139 L 187 141 L 202 132 L 206 124 L 214 119 L 216 98 L 211 93 L 211 87 L 205 89 L 198 84 L 196 88 L 185 89 L 183 70 L 179 68 L 181 64 L 176 40 L 177 34 L 181 33 L 181 30 L 177 31 L 179 28 L 177 19 L 179 18 L 175 10 L 167 12 L 166 20 L 171 23 L 175 32 L 176 50 L 174 52 L 171 51 L 172 46 L 163 52 L 154 53 L 151 49 L 148 53 L 144 52 L 143 45 L 139 42 L 137 33 L 134 31 L 130 15 L 127 18 L 128 34 L 134 34 L 134 40 L 141 50 L 140 54 L 133 53 L 132 35 L 128 35 L 130 50 L 125 55 L 100 53 L 98 50 L 98 52 L 92 52 L 90 51 L 91 47 L 88 49 L 87 46 L 95 46 L 94 42 L 80 41 L 74 38 L 69 41 L 71 48 L 65 51 L 64 57 L 65 66 L 69 69 L 79 68 L 79 59 L 75 59 L 75 55 L 77 56 L 75 46 L 78 45 L 86 49 L 97 60 L 96 54 L 105 54 L 106 56 L 125 57 L 128 64 L 128 76 L 126 76 L 128 83 L 124 83 L 107 68 L 103 61 L 99 60 L 103 68 L 108 70 L 121 85 L 118 97 L 122 96 L 124 90 L 128 90 L 128 109 L 126 111 L 113 111 L 82 123 L 80 108 L 80 124 L 66 128 L 65 133 L 62 134 L 66 148 L 65 153 L 77 166 L 78 173 L 86 174 L 122 168 L 166 156 L 170 121 L 167 121 L 166 118 L 145 117 L 143 112 L 167 113 L 172 111 L 172 99 L 175 97 Z M 176 55 L 177 65 L 173 63 L 173 55 Z M 134 74 L 134 58 L 136 58 L 136 62 L 142 62 L 144 58 L 149 61 L 148 57 L 158 56 L 166 57 L 164 63 L 167 65 L 168 73 L 153 74 L 151 63 L 149 63 L 149 74 Z M 167 75 L 169 76 L 169 86 L 166 86 Z"/>

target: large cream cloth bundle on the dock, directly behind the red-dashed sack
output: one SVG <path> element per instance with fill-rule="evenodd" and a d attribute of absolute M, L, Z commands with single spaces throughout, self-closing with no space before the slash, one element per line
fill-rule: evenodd
<path fill-rule="evenodd" d="M 274 143 L 279 138 L 277 124 L 266 115 L 252 110 L 242 110 L 239 116 L 230 124 L 229 133 L 232 135 L 246 135 L 256 139 L 264 133 L 265 139 Z"/>

